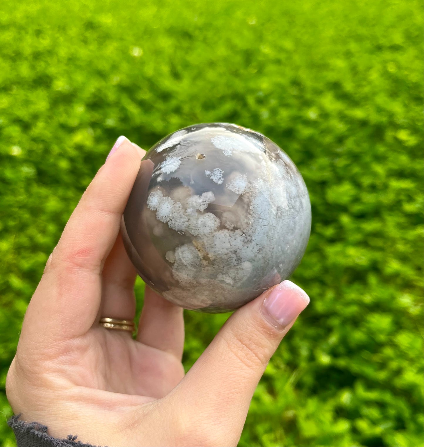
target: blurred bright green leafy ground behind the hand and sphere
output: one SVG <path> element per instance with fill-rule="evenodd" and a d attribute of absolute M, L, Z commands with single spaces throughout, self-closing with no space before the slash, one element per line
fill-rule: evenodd
<path fill-rule="evenodd" d="M 293 275 L 311 304 L 240 445 L 422 446 L 421 22 L 416 0 L 3 0 L 2 391 L 47 257 L 114 140 L 236 122 L 289 154 L 313 212 Z M 227 317 L 186 312 L 187 368 Z M 15 445 L 4 393 L 0 408 Z"/>

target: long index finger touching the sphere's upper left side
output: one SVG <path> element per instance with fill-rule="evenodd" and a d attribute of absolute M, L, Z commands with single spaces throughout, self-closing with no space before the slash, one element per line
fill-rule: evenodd
<path fill-rule="evenodd" d="M 88 331 L 97 316 L 102 266 L 118 235 L 140 168 L 140 148 L 125 137 L 117 143 L 115 152 L 83 194 L 47 261 L 25 315 L 23 334 L 30 330 L 47 339 L 77 337 Z"/>

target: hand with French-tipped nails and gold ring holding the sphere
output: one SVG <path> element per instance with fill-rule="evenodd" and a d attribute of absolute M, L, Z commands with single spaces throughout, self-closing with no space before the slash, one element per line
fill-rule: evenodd
<path fill-rule="evenodd" d="M 10 404 L 54 437 L 94 445 L 235 446 L 254 389 L 309 298 L 289 281 L 272 287 L 233 313 L 185 376 L 182 309 L 147 287 L 136 340 L 101 327 L 101 317 L 132 320 L 136 309 L 119 223 L 145 152 L 123 138 L 113 151 L 28 306 Z"/>

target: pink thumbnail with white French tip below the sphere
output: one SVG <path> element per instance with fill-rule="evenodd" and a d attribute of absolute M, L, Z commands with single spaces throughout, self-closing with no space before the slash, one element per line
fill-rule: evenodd
<path fill-rule="evenodd" d="M 261 306 L 262 315 L 277 329 L 284 329 L 309 304 L 309 296 L 291 281 L 271 289 Z"/>

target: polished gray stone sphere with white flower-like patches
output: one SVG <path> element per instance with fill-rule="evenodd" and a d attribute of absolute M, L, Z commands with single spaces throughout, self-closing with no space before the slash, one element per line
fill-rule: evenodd
<path fill-rule="evenodd" d="M 293 273 L 310 227 L 308 191 L 287 154 L 258 132 L 209 123 L 147 152 L 121 229 L 149 287 L 186 309 L 227 312 Z"/>

